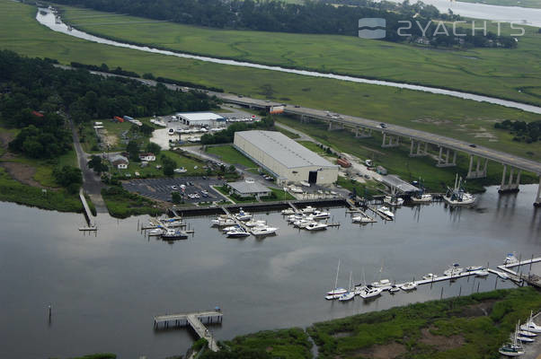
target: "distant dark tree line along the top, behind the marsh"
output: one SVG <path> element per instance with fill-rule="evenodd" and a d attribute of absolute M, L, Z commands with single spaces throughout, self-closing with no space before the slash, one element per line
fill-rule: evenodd
<path fill-rule="evenodd" d="M 393 4 L 368 0 L 305 1 L 288 4 L 282 0 L 58 0 L 60 4 L 90 7 L 103 12 L 129 13 L 155 20 L 167 20 L 218 29 L 275 31 L 313 34 L 358 36 L 359 19 L 386 19 L 386 41 L 412 41 L 423 37 L 419 27 L 412 27 L 411 36 L 403 37 L 400 21 L 420 22 L 431 46 L 516 47 L 509 36 L 493 33 L 483 36 L 455 36 L 452 32 L 437 35 L 434 19 L 453 21 L 459 16 L 452 12 L 439 13 L 429 4 L 418 2 Z M 460 29 L 457 33 L 466 33 Z M 435 34 L 436 32 L 436 34 Z M 495 40 L 494 40 L 495 38 Z"/>

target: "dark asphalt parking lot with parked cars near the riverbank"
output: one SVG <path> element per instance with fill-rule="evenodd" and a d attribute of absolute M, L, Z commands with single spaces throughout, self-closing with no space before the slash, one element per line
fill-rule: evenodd
<path fill-rule="evenodd" d="M 193 186 L 188 182 L 193 183 Z M 137 192 L 145 197 L 154 198 L 159 201 L 171 202 L 171 192 L 174 191 L 172 186 L 176 186 L 177 191 L 182 194 L 181 185 L 185 185 L 184 201 L 186 203 L 199 203 L 221 201 L 221 197 L 210 186 L 221 186 L 224 180 L 207 179 L 203 180 L 200 177 L 181 177 L 176 179 L 147 179 L 147 180 L 130 180 L 122 183 L 122 187 L 129 192 Z M 208 192 L 208 197 L 203 197 L 202 191 Z M 188 195 L 199 194 L 200 198 L 190 198 Z"/>

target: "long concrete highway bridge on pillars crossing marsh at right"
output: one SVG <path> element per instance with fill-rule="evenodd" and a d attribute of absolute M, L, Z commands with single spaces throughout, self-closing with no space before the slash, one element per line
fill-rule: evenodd
<path fill-rule="evenodd" d="M 209 92 L 209 94 L 216 95 L 217 98 L 223 101 L 235 103 L 251 109 L 270 109 L 270 107 L 273 106 L 283 105 L 278 102 L 252 99 L 231 93 Z M 466 153 L 470 157 L 469 169 L 466 176 L 467 179 L 481 179 L 486 177 L 489 160 L 501 163 L 503 166 L 503 175 L 501 176 L 501 185 L 499 189 L 501 193 L 518 191 L 521 171 L 532 172 L 539 176 L 539 187 L 537 188 L 534 206 L 541 206 L 540 162 L 531 161 L 491 148 L 472 145 L 455 138 L 439 136 L 408 127 L 381 124 L 379 121 L 373 119 L 341 115 L 321 109 L 308 109 L 306 107 L 287 105 L 284 107 L 284 113 L 295 115 L 300 118 L 301 121 L 308 122 L 311 119 L 324 121 L 329 124 L 329 130 L 333 128 L 348 127 L 355 131 L 356 136 L 359 137 L 371 136 L 372 131 L 381 132 L 383 135 L 382 147 L 395 147 L 400 145 L 401 141 L 409 141 L 410 156 L 412 157 L 428 155 L 429 144 L 434 144 L 439 147 L 438 162 L 436 164 L 439 167 L 456 166 L 457 153 Z"/>

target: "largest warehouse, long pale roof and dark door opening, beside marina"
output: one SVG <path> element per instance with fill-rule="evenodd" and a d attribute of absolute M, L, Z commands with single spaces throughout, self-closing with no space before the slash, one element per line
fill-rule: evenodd
<path fill-rule="evenodd" d="M 274 174 L 279 182 L 326 185 L 338 177 L 337 165 L 280 132 L 235 132 L 234 144 L 237 150 Z"/>

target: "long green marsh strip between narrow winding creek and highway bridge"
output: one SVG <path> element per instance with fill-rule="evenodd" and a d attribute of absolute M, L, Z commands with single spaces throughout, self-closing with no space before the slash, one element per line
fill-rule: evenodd
<path fill-rule="evenodd" d="M 328 109 L 354 116 L 374 118 L 439 135 L 467 141 L 472 140 L 472 142 L 520 156 L 524 156 L 526 152 L 532 152 L 534 153 L 532 159 L 541 160 L 541 144 L 527 146 L 522 143 L 514 143 L 512 136 L 504 131 L 490 130 L 494 121 L 504 119 L 531 121 L 539 118 L 535 114 L 484 102 L 465 101 L 443 95 L 400 90 L 386 86 L 346 83 L 295 74 L 222 66 L 128 48 L 114 48 L 49 31 L 37 23 L 34 16 L 34 7 L 0 0 L 0 29 L 2 30 L 0 31 L 0 43 L 2 48 L 11 49 L 30 57 L 57 58 L 64 64 L 76 61 L 100 66 L 102 63 L 106 63 L 110 67 L 121 66 L 125 70 L 135 71 L 138 74 L 151 72 L 156 76 L 217 86 L 224 88 L 227 92 L 243 93 L 255 98 L 288 101 L 315 109 Z M 384 45 L 387 46 L 386 43 L 377 41 L 377 46 Z M 500 51 L 500 49 L 487 50 Z M 430 54 L 439 52 L 441 51 L 423 49 L 421 53 L 430 57 Z M 463 56 L 463 53 L 457 55 L 459 58 Z M 402 57 L 393 58 L 403 61 Z M 355 62 L 368 64 L 367 61 L 359 61 L 359 58 L 356 58 Z M 372 63 L 372 61 L 369 62 Z M 408 63 L 408 61 L 404 61 L 404 63 Z M 478 63 L 483 68 L 490 67 L 487 65 L 490 64 L 488 61 L 482 60 Z M 537 63 L 535 66 L 528 65 L 527 60 L 517 62 L 506 60 L 506 64 L 525 68 L 538 66 Z M 415 66 L 417 68 L 418 64 Z M 387 68 L 398 71 L 402 67 L 396 65 Z M 409 71 L 404 69 L 401 72 L 407 74 Z M 500 78 L 498 76 L 507 72 L 507 70 L 496 71 L 493 76 Z M 423 74 L 433 75 L 430 72 L 422 72 L 421 75 Z M 505 83 L 502 86 L 493 83 L 483 85 L 482 82 L 473 80 L 466 82 L 479 86 L 479 88 L 490 87 L 493 91 L 501 91 L 509 85 L 517 88 L 526 85 L 538 87 L 538 79 L 534 83 L 528 84 L 528 74 L 524 75 L 525 78 L 521 78 L 520 83 L 515 84 L 512 84 L 512 80 L 505 78 L 501 80 Z M 457 74 L 455 76 L 458 77 Z M 486 75 L 487 79 L 490 77 Z M 463 80 L 461 82 L 466 83 Z M 486 128 L 498 141 L 493 142 L 489 141 L 489 138 L 475 137 L 474 132 L 466 131 L 465 127 L 470 126 Z"/>

